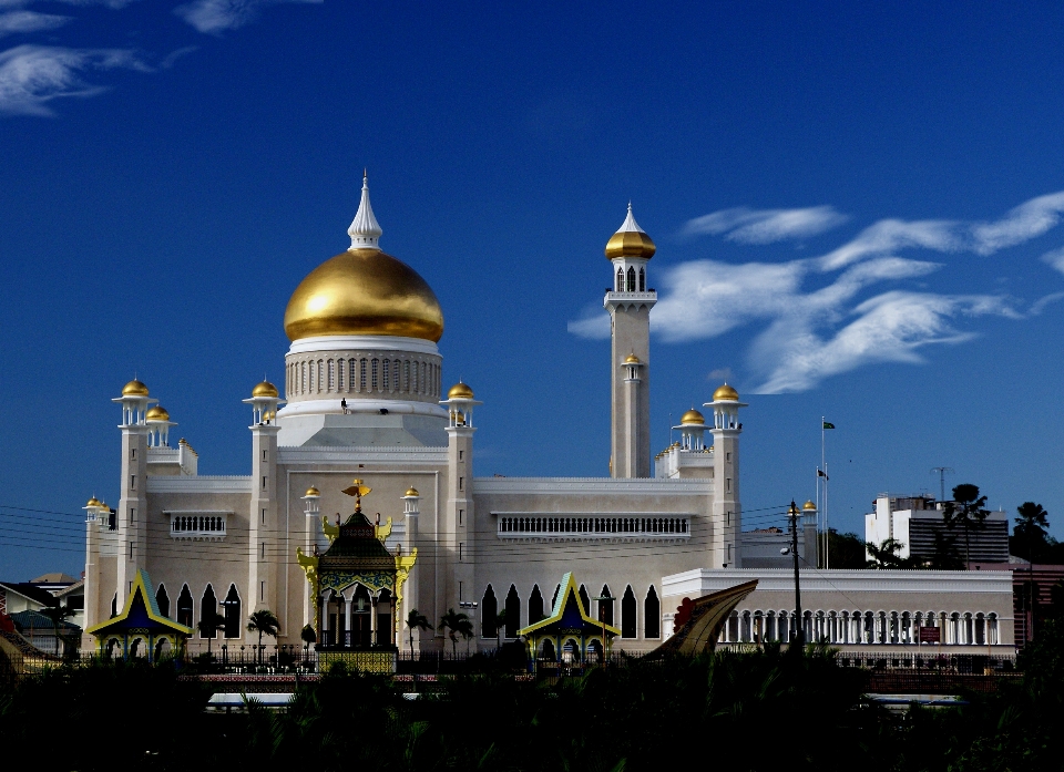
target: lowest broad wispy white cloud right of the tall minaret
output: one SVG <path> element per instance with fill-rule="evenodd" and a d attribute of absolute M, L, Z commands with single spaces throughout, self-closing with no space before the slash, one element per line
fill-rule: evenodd
<path fill-rule="evenodd" d="M 857 306 L 858 318 L 827 340 L 808 320 L 784 317 L 758 338 L 751 360 L 765 382 L 754 391 L 777 394 L 806 391 L 825 378 L 873 362 L 923 361 L 919 351 L 934 343 L 961 343 L 974 337 L 955 330 L 959 316 L 996 315 L 1016 318 L 1016 312 L 995 296 L 948 296 L 891 291 Z"/>

